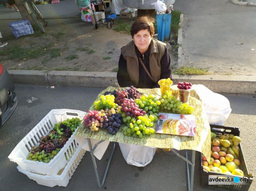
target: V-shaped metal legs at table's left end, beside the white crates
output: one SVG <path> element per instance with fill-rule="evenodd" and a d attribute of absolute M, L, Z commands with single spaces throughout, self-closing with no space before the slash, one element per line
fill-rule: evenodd
<path fill-rule="evenodd" d="M 105 173 L 104 173 L 102 182 L 100 183 L 100 177 L 99 177 L 99 173 L 98 173 L 98 169 L 97 169 L 97 165 L 96 165 L 96 161 L 95 161 L 95 157 L 94 157 L 94 154 L 93 154 L 93 153 L 94 153 L 95 149 L 97 148 L 97 146 L 98 146 L 100 143 L 104 142 L 105 140 L 99 141 L 98 143 L 96 143 L 96 144 L 94 145 L 93 148 L 92 148 L 92 146 L 91 146 L 91 140 L 90 140 L 89 138 L 88 138 L 87 140 L 88 140 L 88 145 L 89 145 L 89 149 L 90 149 L 91 159 L 93 160 L 93 166 L 94 166 L 94 170 L 95 170 L 95 174 L 96 174 L 98 186 L 99 186 L 100 188 L 102 188 L 103 185 L 104 185 L 104 182 L 105 182 L 106 174 L 108 173 L 108 170 L 109 170 L 109 165 L 110 165 L 112 156 L 113 156 L 114 151 L 115 151 L 115 142 L 113 142 L 114 145 L 113 145 L 113 149 L 112 149 L 112 152 L 111 152 L 111 155 L 110 155 L 110 158 L 109 158 L 109 162 L 108 162 L 108 165 L 107 165 L 107 167 L 106 167 L 106 170 L 105 170 Z"/>

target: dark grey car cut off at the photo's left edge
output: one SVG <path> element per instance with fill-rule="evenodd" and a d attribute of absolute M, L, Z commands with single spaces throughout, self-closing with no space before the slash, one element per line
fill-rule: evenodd
<path fill-rule="evenodd" d="M 14 83 L 8 71 L 0 63 L 0 127 L 11 117 L 17 106 Z"/>

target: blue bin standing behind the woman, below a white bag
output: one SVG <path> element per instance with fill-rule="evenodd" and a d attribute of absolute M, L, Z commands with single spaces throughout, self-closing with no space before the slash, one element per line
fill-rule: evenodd
<path fill-rule="evenodd" d="M 156 15 L 158 40 L 169 41 L 171 35 L 171 14 Z"/>

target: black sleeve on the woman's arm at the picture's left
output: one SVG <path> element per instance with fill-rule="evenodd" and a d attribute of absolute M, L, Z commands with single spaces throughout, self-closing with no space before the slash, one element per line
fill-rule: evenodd
<path fill-rule="evenodd" d="M 123 54 L 121 53 L 118 63 L 118 72 L 117 72 L 117 82 L 121 87 L 130 87 L 132 86 L 132 82 L 130 80 L 130 76 L 127 72 L 127 63 Z"/>

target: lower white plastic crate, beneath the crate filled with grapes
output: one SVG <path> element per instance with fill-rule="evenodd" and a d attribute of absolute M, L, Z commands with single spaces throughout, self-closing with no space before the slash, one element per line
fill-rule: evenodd
<path fill-rule="evenodd" d="M 81 146 L 78 146 L 72 158 L 67 163 L 67 166 L 64 168 L 63 171 L 61 170 L 56 176 L 32 173 L 30 171 L 22 170 L 19 166 L 17 167 L 17 169 L 19 170 L 19 172 L 26 174 L 30 179 L 35 180 L 40 185 L 48 187 L 54 187 L 57 185 L 66 187 L 69 184 L 69 180 L 71 176 L 74 174 L 75 169 L 79 165 L 85 152 L 86 151 L 83 150 Z"/>

